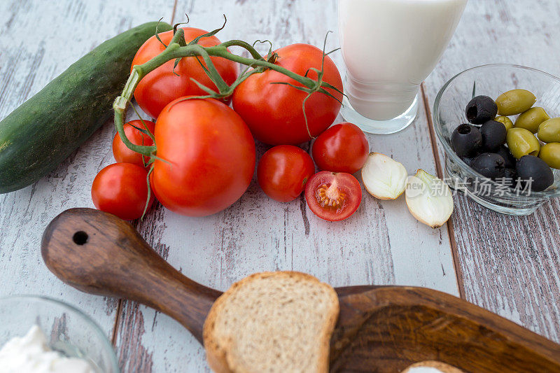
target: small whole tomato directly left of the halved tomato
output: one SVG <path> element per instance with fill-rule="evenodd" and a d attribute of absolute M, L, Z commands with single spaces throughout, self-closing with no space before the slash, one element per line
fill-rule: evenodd
<path fill-rule="evenodd" d="M 297 146 L 279 145 L 260 158 L 257 180 L 268 197 L 290 202 L 302 194 L 314 173 L 315 165 L 307 152 Z"/>

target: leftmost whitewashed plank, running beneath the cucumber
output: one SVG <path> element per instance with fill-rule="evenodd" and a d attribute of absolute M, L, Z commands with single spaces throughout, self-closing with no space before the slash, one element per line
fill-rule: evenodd
<path fill-rule="evenodd" d="M 107 38 L 172 15 L 172 1 L 0 1 L 0 118 Z M 109 123 L 49 176 L 0 195 L 0 296 L 48 295 L 85 311 L 113 334 L 118 300 L 64 285 L 41 259 L 41 235 L 58 213 L 90 206 L 90 185 L 112 157 Z"/>

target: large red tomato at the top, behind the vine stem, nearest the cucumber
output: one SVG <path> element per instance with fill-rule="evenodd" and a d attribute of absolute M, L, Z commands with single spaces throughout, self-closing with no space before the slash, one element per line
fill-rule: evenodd
<path fill-rule="evenodd" d="M 202 29 L 194 29 L 193 27 L 183 27 L 183 31 L 185 31 L 187 43 L 193 41 L 197 36 L 207 34 L 208 32 Z M 173 31 L 162 32 L 159 36 L 166 45 L 169 45 L 173 38 Z M 216 36 L 209 36 L 201 38 L 198 43 L 203 47 L 211 47 L 221 42 Z M 132 60 L 132 66 L 148 62 L 163 52 L 163 50 L 165 50 L 165 45 L 160 43 L 155 36 L 152 36 L 140 47 Z M 218 73 L 225 80 L 225 83 L 228 83 L 228 85 L 232 84 L 237 78 L 237 64 L 221 57 L 210 58 L 214 66 L 216 66 Z M 199 60 L 206 66 L 206 63 L 202 61 L 202 57 Z M 175 73 L 179 76 L 173 73 L 175 60 L 168 61 L 158 67 L 158 69 L 148 73 L 148 75 L 140 80 L 134 91 L 134 98 L 136 98 L 142 110 L 151 115 L 152 118 L 158 118 L 162 108 L 174 99 L 183 96 L 206 95 L 207 92 L 201 90 L 191 78 L 216 90 L 216 85 L 204 72 L 200 62 L 197 61 L 197 57 L 183 57 L 181 62 L 175 67 Z"/>

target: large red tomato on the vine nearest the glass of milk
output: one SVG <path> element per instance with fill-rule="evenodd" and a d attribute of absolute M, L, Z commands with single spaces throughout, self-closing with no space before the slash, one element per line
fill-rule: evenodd
<path fill-rule="evenodd" d="M 317 74 L 309 68 L 321 69 L 323 51 L 308 44 L 293 44 L 275 51 L 279 66 L 316 79 Z M 326 56 L 323 81 L 342 91 L 342 80 L 337 66 Z M 309 141 L 305 126 L 302 103 L 307 92 L 289 85 L 301 86 L 282 73 L 267 70 L 255 73 L 241 83 L 233 93 L 233 108 L 245 120 L 255 139 L 270 145 L 297 145 Z M 342 94 L 327 89 L 334 97 L 342 100 Z M 340 103 L 326 94 L 314 92 L 307 99 L 305 113 L 311 136 L 321 134 L 337 118 Z"/>

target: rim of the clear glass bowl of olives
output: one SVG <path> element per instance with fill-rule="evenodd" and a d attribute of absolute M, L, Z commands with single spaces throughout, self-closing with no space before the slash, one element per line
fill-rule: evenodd
<path fill-rule="evenodd" d="M 468 164 L 466 164 L 463 160 L 461 160 L 461 157 L 455 154 L 453 149 L 451 149 L 451 144 L 448 141 L 446 141 L 444 138 L 444 135 L 442 133 L 442 124 L 440 123 L 440 118 L 437 115 L 437 112 L 439 111 L 439 107 L 440 107 L 440 99 L 442 98 L 445 90 L 447 90 L 449 84 L 451 84 L 451 82 L 455 80 L 455 78 L 457 78 L 458 76 L 463 75 L 463 73 L 467 73 L 468 71 L 475 70 L 475 69 L 480 69 L 482 67 L 505 67 L 505 68 L 514 68 L 514 69 L 533 71 L 535 73 L 540 73 L 544 76 L 547 76 L 552 80 L 556 80 L 556 82 L 558 83 L 560 83 L 560 78 L 552 75 L 551 73 L 547 73 L 545 71 L 534 69 L 533 67 L 528 67 L 528 66 L 522 66 L 517 64 L 484 64 L 480 66 L 471 67 L 470 69 L 466 69 L 461 71 L 460 73 L 457 73 L 451 79 L 447 80 L 447 82 L 441 87 L 439 92 L 437 92 L 433 104 L 433 109 L 432 109 L 433 127 L 435 129 L 435 133 L 437 134 L 437 139 L 439 139 L 440 143 L 442 143 L 442 146 L 445 150 L 445 155 L 447 157 L 450 157 L 451 160 L 453 160 L 456 164 L 459 164 L 461 166 L 461 169 L 466 170 L 467 173 L 470 174 L 471 176 L 476 176 L 477 178 L 486 179 L 490 182 L 493 188 L 496 188 L 496 186 L 500 184 L 496 183 L 496 181 L 493 181 L 490 178 L 486 178 L 482 174 L 479 174 L 477 171 L 472 169 Z M 518 199 L 549 199 L 549 198 L 560 196 L 560 188 L 545 190 L 542 192 L 531 192 L 531 195 L 516 195 L 515 193 L 508 191 L 505 193 L 505 195 L 507 195 L 507 197 L 514 197 Z"/>

